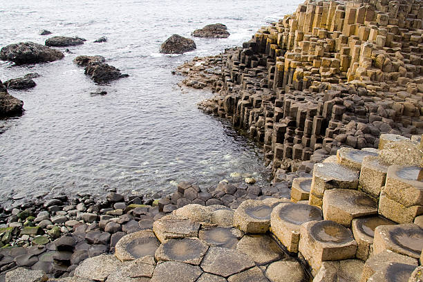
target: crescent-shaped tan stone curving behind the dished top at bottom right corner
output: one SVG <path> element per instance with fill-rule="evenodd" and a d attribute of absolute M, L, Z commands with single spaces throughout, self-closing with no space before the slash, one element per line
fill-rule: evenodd
<path fill-rule="evenodd" d="M 360 282 L 366 282 L 375 272 L 381 267 L 391 263 L 405 263 L 407 265 L 417 266 L 417 259 L 413 259 L 410 256 L 404 256 L 403 254 L 397 254 L 391 250 L 384 250 L 378 254 L 371 255 L 363 267 Z"/>

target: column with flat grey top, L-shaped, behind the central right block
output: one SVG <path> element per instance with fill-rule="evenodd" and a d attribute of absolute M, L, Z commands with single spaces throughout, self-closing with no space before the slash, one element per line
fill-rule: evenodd
<path fill-rule="evenodd" d="M 359 173 L 336 163 L 314 164 L 310 205 L 321 207 L 323 194 L 329 189 L 357 189 Z"/>

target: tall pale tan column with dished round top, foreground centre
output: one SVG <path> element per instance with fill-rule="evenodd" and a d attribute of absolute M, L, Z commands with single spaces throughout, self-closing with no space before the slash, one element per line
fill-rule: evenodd
<path fill-rule="evenodd" d="M 301 224 L 322 220 L 321 209 L 312 205 L 283 203 L 276 206 L 270 216 L 272 233 L 289 252 L 298 252 Z"/>

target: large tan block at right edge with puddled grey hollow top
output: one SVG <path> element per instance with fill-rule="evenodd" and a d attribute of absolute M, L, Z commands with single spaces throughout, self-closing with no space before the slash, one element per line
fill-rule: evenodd
<path fill-rule="evenodd" d="M 419 180 L 422 170 L 421 167 L 391 165 L 386 174 L 386 195 L 405 207 L 423 205 L 423 181 Z"/>

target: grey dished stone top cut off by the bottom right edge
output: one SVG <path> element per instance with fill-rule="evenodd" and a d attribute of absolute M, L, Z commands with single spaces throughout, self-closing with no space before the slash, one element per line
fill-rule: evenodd
<path fill-rule="evenodd" d="M 373 274 L 368 282 L 408 282 L 415 269 L 414 265 L 404 263 L 389 263 Z"/>

